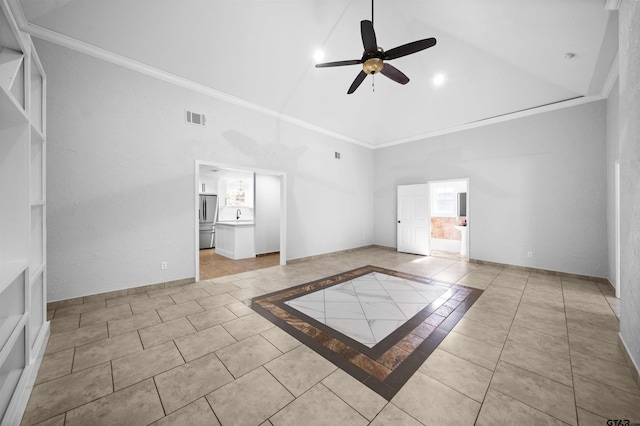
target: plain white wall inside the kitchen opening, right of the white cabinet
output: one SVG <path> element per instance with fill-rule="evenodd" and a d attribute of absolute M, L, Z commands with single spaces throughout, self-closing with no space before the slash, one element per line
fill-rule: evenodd
<path fill-rule="evenodd" d="M 280 251 L 280 177 L 256 174 L 256 254 Z"/>

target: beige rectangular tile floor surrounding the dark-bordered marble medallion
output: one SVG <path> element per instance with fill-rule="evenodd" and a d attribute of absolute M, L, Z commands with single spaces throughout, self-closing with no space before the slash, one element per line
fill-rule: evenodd
<path fill-rule="evenodd" d="M 390 402 L 246 305 L 365 265 L 484 290 Z M 23 424 L 640 422 L 611 305 L 589 280 L 381 248 L 56 302 Z"/>

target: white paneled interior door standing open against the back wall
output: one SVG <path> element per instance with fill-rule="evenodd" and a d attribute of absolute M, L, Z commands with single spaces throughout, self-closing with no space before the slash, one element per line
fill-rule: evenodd
<path fill-rule="evenodd" d="M 398 251 L 429 255 L 429 185 L 398 185 Z"/>

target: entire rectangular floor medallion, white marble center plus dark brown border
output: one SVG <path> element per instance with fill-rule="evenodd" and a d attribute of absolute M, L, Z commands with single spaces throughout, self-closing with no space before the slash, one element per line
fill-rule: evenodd
<path fill-rule="evenodd" d="M 391 400 L 482 293 L 365 266 L 253 298 L 251 306 Z"/>

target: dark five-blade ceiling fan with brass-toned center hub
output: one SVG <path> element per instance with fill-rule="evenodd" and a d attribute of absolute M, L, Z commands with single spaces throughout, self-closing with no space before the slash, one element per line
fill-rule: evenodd
<path fill-rule="evenodd" d="M 382 75 L 390 78 L 396 83 L 407 84 L 409 77 L 404 75 L 402 71 L 396 67 L 386 64 L 384 61 L 390 61 L 402 56 L 407 56 L 412 53 L 420 52 L 421 50 L 428 49 L 435 46 L 435 38 L 425 38 L 424 40 L 417 40 L 411 43 L 403 44 L 402 46 L 394 47 L 386 52 L 378 46 L 376 41 L 376 33 L 373 29 L 373 0 L 371 0 L 371 21 L 360 21 L 360 33 L 362 35 L 362 45 L 364 46 L 364 53 L 360 59 L 352 59 L 348 61 L 337 62 L 325 62 L 323 64 L 316 64 L 316 68 L 327 67 L 341 67 L 344 65 L 358 65 L 362 64 L 362 71 L 353 80 L 347 94 L 351 94 L 356 91 L 358 86 L 364 81 L 368 74 L 374 75 L 381 73 Z"/>

